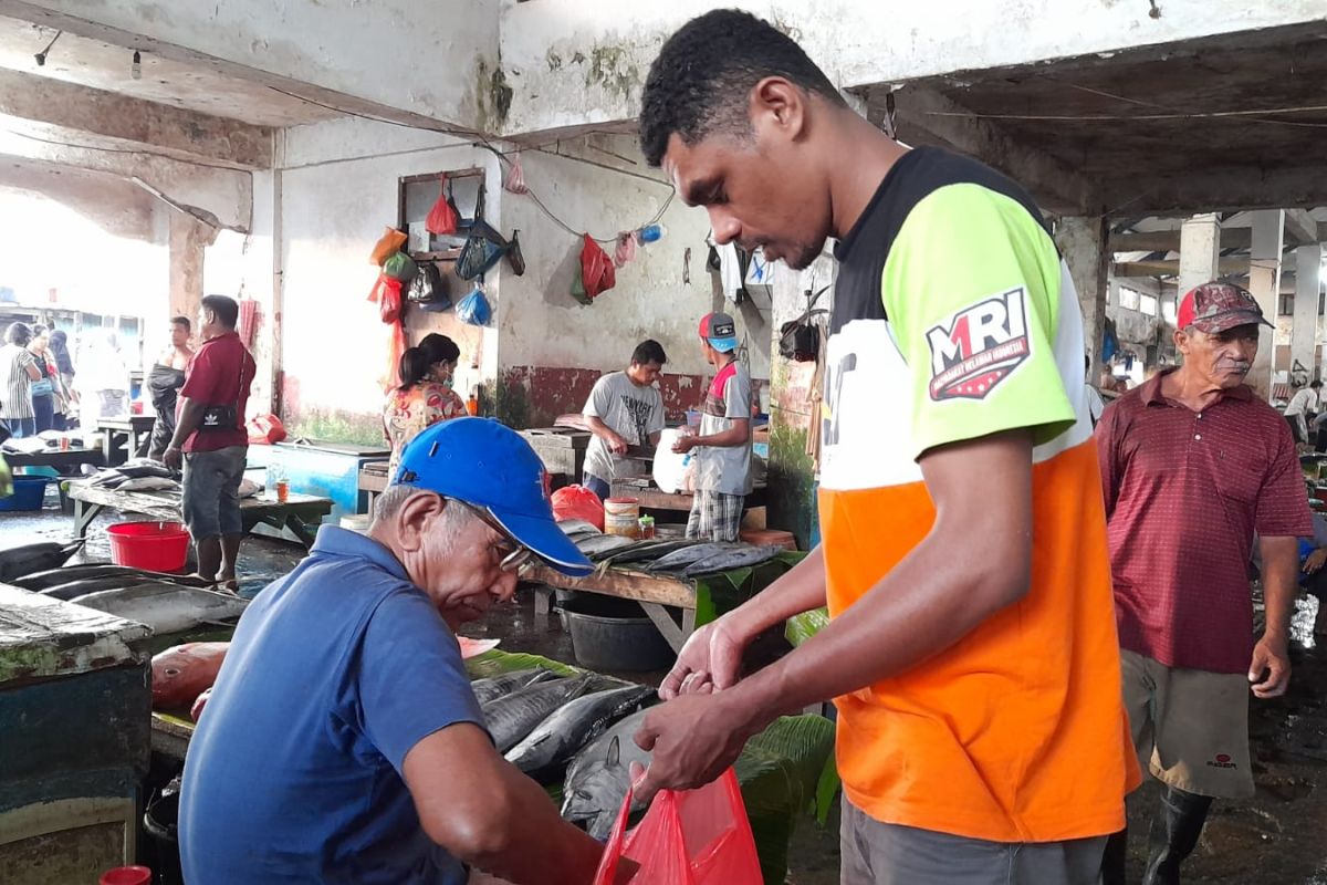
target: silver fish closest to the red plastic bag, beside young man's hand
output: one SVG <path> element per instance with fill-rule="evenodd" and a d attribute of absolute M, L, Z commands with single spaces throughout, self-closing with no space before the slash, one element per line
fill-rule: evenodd
<path fill-rule="evenodd" d="M 650 764 L 650 754 L 636 746 L 636 732 L 648 713 L 641 710 L 605 731 L 576 754 L 567 770 L 563 817 L 584 825 L 600 841 L 608 839 L 626 799 L 632 763 Z M 644 808 L 642 803 L 632 803 L 632 812 Z"/>

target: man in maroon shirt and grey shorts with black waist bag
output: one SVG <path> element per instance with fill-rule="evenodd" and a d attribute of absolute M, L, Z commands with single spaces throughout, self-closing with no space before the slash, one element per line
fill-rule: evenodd
<path fill-rule="evenodd" d="M 194 354 L 179 390 L 175 434 L 162 460 L 184 466 L 184 524 L 198 548 L 198 573 L 239 589 L 235 561 L 244 525 L 240 480 L 248 455 L 244 406 L 256 365 L 235 333 L 239 304 L 224 295 L 203 299 Z"/>

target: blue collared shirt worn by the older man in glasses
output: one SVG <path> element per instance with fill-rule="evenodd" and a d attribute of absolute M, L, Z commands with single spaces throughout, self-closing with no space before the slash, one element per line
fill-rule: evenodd
<path fill-rule="evenodd" d="M 333 525 L 249 605 L 190 742 L 190 885 L 454 885 L 401 768 L 483 716 L 451 630 L 381 544 Z"/>

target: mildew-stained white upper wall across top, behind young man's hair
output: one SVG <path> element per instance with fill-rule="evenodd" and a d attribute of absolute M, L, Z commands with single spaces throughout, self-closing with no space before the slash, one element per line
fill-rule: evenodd
<path fill-rule="evenodd" d="M 519 82 L 506 134 L 629 119 L 664 40 L 714 8 L 539 0 L 502 5 L 502 61 Z M 1320 20 L 1322 0 L 734 0 L 784 28 L 841 88 L 904 82 Z"/>

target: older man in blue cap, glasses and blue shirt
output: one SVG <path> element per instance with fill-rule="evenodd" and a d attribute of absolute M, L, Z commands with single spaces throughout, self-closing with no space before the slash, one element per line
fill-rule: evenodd
<path fill-rule="evenodd" d="M 591 571 L 529 446 L 415 437 L 368 536 L 324 525 L 240 620 L 184 764 L 186 881 L 589 882 L 601 847 L 494 748 L 455 637 L 533 559 Z"/>

